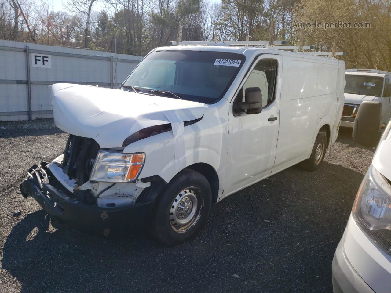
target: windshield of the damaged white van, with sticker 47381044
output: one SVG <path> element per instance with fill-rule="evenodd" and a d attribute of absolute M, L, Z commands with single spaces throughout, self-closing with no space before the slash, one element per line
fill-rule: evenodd
<path fill-rule="evenodd" d="M 152 52 L 124 86 L 133 86 L 140 93 L 175 98 L 173 93 L 184 100 L 211 104 L 225 94 L 244 60 L 244 55 L 226 52 Z"/>

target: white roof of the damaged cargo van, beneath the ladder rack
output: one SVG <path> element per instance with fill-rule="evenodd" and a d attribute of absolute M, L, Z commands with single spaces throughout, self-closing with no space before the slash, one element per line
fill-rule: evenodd
<path fill-rule="evenodd" d="M 264 53 L 264 54 L 274 54 L 274 55 L 288 55 L 298 57 L 300 59 L 307 59 L 312 61 L 318 61 L 322 63 L 336 63 L 341 64 L 341 60 L 317 56 L 312 54 L 298 53 L 298 52 L 290 52 L 286 50 L 278 50 L 273 48 L 257 48 L 257 47 L 241 47 L 241 46 L 205 46 L 205 45 L 184 45 L 184 46 L 169 46 L 169 47 L 159 47 L 152 51 L 167 51 L 167 50 L 190 50 L 190 51 L 210 51 L 210 52 L 229 52 L 236 54 L 243 54 L 246 58 L 252 59 L 256 55 Z M 152 52 L 151 51 L 151 52 Z"/>

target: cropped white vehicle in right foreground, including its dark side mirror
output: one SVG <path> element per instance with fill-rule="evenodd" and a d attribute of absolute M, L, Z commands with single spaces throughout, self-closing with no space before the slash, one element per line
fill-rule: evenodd
<path fill-rule="evenodd" d="M 377 149 L 334 254 L 334 293 L 391 291 L 391 122 L 381 131 L 381 113 L 365 101 L 354 122 L 354 140 Z"/>

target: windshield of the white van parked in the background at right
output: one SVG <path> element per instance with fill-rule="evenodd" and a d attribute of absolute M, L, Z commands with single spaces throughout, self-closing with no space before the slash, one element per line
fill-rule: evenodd
<path fill-rule="evenodd" d="M 383 77 L 346 74 L 345 93 L 380 96 L 383 89 Z"/>

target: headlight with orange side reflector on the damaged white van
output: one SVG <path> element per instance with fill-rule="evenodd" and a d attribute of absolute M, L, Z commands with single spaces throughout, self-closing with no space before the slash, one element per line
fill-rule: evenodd
<path fill-rule="evenodd" d="M 137 179 L 144 164 L 145 155 L 122 154 L 100 150 L 92 168 L 90 180 L 100 182 L 131 182 Z"/>

